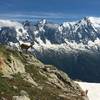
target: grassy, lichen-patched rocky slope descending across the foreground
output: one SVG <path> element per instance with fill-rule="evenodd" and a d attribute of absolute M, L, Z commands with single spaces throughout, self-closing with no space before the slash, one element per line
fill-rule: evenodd
<path fill-rule="evenodd" d="M 88 100 L 67 74 L 0 45 L 0 100 Z"/>

